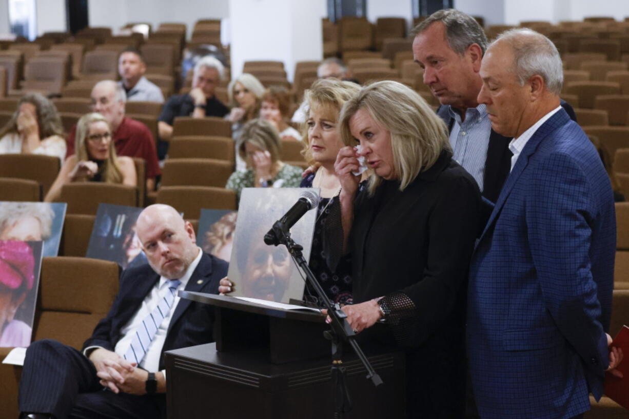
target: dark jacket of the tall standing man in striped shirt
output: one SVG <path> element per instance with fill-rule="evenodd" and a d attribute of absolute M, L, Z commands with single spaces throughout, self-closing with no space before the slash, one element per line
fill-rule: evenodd
<path fill-rule="evenodd" d="M 577 120 L 577 115 L 569 103 L 561 101 L 562 108 L 568 113 L 573 121 Z M 437 109 L 437 115 L 446 123 L 448 130 L 452 130 L 454 118 L 450 116 L 448 106 L 440 106 Z M 498 199 L 501 189 L 503 189 L 504 181 L 509 176 L 511 170 L 511 150 L 509 150 L 509 142 L 513 138 L 504 137 L 494 130 L 489 133 L 489 145 L 487 145 L 487 159 L 485 160 L 485 176 L 483 179 L 482 196 L 495 203 Z"/>

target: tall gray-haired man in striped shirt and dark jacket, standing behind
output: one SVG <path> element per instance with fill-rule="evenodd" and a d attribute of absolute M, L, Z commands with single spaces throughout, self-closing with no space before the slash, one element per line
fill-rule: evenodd
<path fill-rule="evenodd" d="M 431 14 L 413 33 L 413 58 L 442 105 L 437 113 L 450 130 L 454 159 L 476 179 L 482 196 L 496 202 L 509 174 L 511 139 L 491 129 L 486 106 L 477 101 L 485 33 L 472 16 L 455 9 Z M 572 107 L 562 106 L 576 121 Z"/>

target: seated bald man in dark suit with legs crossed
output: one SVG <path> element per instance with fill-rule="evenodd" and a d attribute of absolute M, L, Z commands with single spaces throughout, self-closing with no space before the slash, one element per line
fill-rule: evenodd
<path fill-rule="evenodd" d="M 167 205 L 143 210 L 136 232 L 149 265 L 123 272 L 111 310 L 83 351 L 53 340 L 26 351 L 19 388 L 24 417 L 165 418 L 164 351 L 212 342 L 211 307 L 179 299 L 177 289 L 218 293 L 227 262 L 204 254 L 190 223 Z M 148 318 L 157 332 L 140 338 Z M 138 344 L 145 354 L 133 348 Z"/>

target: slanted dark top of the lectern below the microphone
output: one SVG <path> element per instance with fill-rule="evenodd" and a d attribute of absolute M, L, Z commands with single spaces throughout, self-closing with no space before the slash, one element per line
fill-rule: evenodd
<path fill-rule="evenodd" d="M 209 304 L 219 308 L 245 311 L 263 316 L 286 318 L 289 320 L 311 321 L 313 323 L 323 323 L 325 316 L 309 310 L 284 310 L 283 308 L 269 307 L 264 304 L 252 303 L 231 296 L 196 293 L 194 291 L 179 291 L 181 298 L 197 301 L 198 303 Z"/>

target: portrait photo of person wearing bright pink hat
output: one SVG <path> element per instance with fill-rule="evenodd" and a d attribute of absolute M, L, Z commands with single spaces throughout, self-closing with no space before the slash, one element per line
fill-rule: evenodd
<path fill-rule="evenodd" d="M 27 347 L 39 282 L 42 242 L 0 241 L 0 347 Z"/>

